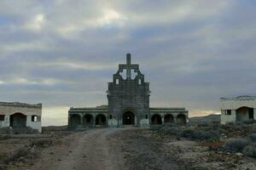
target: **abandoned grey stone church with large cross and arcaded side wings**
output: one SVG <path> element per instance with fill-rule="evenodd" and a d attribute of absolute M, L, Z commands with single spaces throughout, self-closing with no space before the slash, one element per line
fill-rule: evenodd
<path fill-rule="evenodd" d="M 131 54 L 126 55 L 126 64 L 119 65 L 113 82 L 108 82 L 107 96 L 108 105 L 70 108 L 68 127 L 148 127 L 166 122 L 185 124 L 189 121 L 189 112 L 185 108 L 149 107 L 149 82 L 144 81 L 139 65 L 131 64 Z"/>

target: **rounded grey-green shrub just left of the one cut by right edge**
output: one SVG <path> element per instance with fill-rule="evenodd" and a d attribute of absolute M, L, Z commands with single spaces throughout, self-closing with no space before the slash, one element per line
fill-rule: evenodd
<path fill-rule="evenodd" d="M 228 151 L 241 152 L 249 141 L 247 139 L 230 139 L 224 144 L 224 149 Z"/>

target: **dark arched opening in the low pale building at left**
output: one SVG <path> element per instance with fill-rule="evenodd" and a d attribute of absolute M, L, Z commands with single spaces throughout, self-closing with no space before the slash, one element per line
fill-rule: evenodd
<path fill-rule="evenodd" d="M 9 119 L 10 127 L 26 127 L 26 116 L 22 113 L 15 113 L 10 116 Z"/>

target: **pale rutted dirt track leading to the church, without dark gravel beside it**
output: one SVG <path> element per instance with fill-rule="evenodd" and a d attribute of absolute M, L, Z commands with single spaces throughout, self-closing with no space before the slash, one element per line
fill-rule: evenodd
<path fill-rule="evenodd" d="M 96 128 L 69 135 L 64 147 L 44 150 L 33 169 L 124 169 L 122 152 L 110 144 L 111 135 L 122 130 Z"/>

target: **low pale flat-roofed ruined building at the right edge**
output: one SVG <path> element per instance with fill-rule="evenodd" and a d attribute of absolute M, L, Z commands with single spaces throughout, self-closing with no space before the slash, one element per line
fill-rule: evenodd
<path fill-rule="evenodd" d="M 221 98 L 221 124 L 256 120 L 256 96 Z"/>

